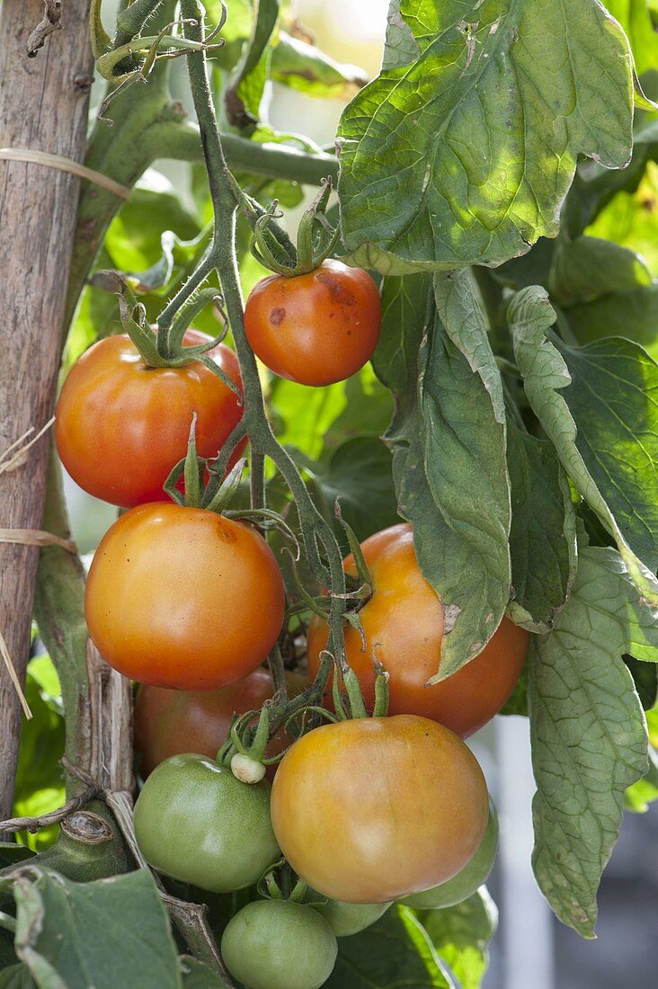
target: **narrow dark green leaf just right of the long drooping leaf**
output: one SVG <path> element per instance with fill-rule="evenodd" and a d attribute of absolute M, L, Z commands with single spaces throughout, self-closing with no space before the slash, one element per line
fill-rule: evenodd
<path fill-rule="evenodd" d="M 551 443 L 508 424 L 512 482 L 511 613 L 518 624 L 547 632 L 576 572 L 576 512 Z"/>

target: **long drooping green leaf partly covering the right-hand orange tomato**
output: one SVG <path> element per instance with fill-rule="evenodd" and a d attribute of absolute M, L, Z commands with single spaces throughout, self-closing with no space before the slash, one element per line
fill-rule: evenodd
<path fill-rule="evenodd" d="M 410 321 L 397 324 L 404 337 L 397 349 L 407 355 L 409 384 L 398 393 L 385 438 L 393 449 L 400 512 L 414 525 L 423 575 L 443 601 L 443 678 L 482 651 L 510 597 L 505 404 L 486 320 L 467 274 L 436 280 L 438 315 L 427 322 L 431 329 L 423 340 L 421 301 L 415 307 L 392 303 L 389 293 L 406 298 L 407 289 L 395 281 L 386 285 L 384 312 L 389 320 L 407 306 Z M 389 353 L 396 350 L 395 332 L 385 326 Z M 386 358 L 380 354 L 379 360 L 384 367 Z"/>

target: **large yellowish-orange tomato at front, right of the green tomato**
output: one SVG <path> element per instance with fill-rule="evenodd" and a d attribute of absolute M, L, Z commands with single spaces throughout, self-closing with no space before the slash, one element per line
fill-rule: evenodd
<path fill-rule="evenodd" d="M 447 728 L 409 714 L 304 735 L 279 765 L 270 806 L 298 875 L 346 903 L 385 903 L 452 878 L 489 817 L 475 756 Z"/>

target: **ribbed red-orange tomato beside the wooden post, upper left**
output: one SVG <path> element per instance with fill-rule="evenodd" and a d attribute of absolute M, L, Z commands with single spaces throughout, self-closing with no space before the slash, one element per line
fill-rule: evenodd
<path fill-rule="evenodd" d="M 188 346 L 210 337 L 188 329 Z M 233 350 L 219 344 L 208 354 L 241 390 Z M 217 457 L 239 422 L 242 407 L 224 382 L 199 361 L 182 368 L 147 367 L 128 334 L 109 336 L 71 368 L 55 412 L 61 462 L 89 494 L 133 507 L 161 501 L 170 471 L 185 456 L 197 413 L 200 457 Z M 232 455 L 239 458 L 244 443 Z"/>

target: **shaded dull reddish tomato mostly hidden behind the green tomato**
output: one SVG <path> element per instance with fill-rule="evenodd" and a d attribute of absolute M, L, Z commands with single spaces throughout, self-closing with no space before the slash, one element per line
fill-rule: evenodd
<path fill-rule="evenodd" d="M 309 685 L 306 676 L 286 674 L 288 695 L 296 697 Z M 141 755 L 145 778 L 156 765 L 186 752 L 215 759 L 229 735 L 234 714 L 257 711 L 274 695 L 272 677 L 259 667 L 220 690 L 168 690 L 144 683 L 135 702 L 135 750 Z M 276 756 L 293 739 L 282 729 L 267 748 Z M 274 778 L 276 765 L 267 767 Z"/>

